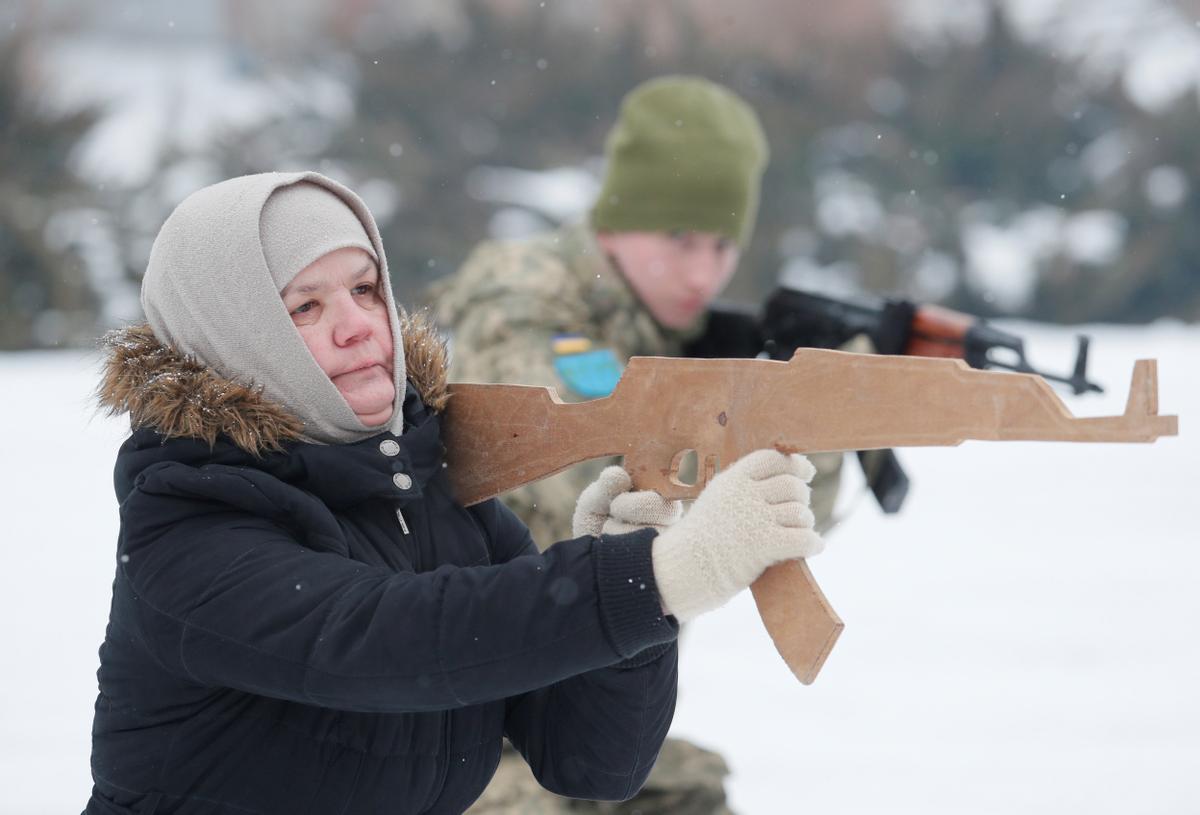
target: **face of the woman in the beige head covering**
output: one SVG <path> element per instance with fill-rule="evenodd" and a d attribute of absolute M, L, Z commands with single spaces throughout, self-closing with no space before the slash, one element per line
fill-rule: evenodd
<path fill-rule="evenodd" d="M 367 427 L 391 418 L 396 385 L 388 304 L 379 269 L 360 248 L 340 248 L 280 293 L 317 365 Z"/>

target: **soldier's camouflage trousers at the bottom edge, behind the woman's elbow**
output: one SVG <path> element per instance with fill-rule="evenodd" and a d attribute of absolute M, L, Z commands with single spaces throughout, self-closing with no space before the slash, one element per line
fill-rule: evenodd
<path fill-rule="evenodd" d="M 730 769 L 715 753 L 668 738 L 646 786 L 631 801 L 598 803 L 574 801 L 547 792 L 529 772 L 529 765 L 508 742 L 496 778 L 469 815 L 563 815 L 620 813 L 622 815 L 732 815 L 725 804 L 725 777 Z"/>

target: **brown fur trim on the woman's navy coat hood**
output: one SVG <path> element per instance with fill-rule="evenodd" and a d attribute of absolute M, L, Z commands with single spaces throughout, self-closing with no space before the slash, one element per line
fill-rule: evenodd
<path fill-rule="evenodd" d="M 408 380 L 439 413 L 449 398 L 445 343 L 424 312 L 401 312 L 400 325 Z M 167 438 L 210 445 L 223 433 L 254 456 L 281 450 L 304 431 L 304 423 L 260 388 L 221 377 L 160 342 L 146 324 L 109 331 L 101 344 L 107 359 L 97 401 L 110 415 L 128 413 L 134 430 L 152 427 Z"/>

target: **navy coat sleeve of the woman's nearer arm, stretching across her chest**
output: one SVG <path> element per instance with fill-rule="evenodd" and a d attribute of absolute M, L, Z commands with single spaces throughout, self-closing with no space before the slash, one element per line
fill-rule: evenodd
<path fill-rule="evenodd" d="M 631 582 L 650 570 L 649 538 L 397 574 L 306 549 L 253 514 L 170 501 L 139 487 L 124 502 L 114 591 L 152 658 L 202 685 L 347 711 L 448 709 L 676 636 Z"/>

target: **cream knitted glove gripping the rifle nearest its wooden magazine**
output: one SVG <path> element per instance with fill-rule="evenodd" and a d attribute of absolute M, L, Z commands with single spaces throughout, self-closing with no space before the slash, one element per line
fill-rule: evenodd
<path fill-rule="evenodd" d="M 802 455 L 757 450 L 704 487 L 688 516 L 654 539 L 662 609 L 680 622 L 727 600 L 780 561 L 824 549 L 812 531 L 816 471 Z"/>

